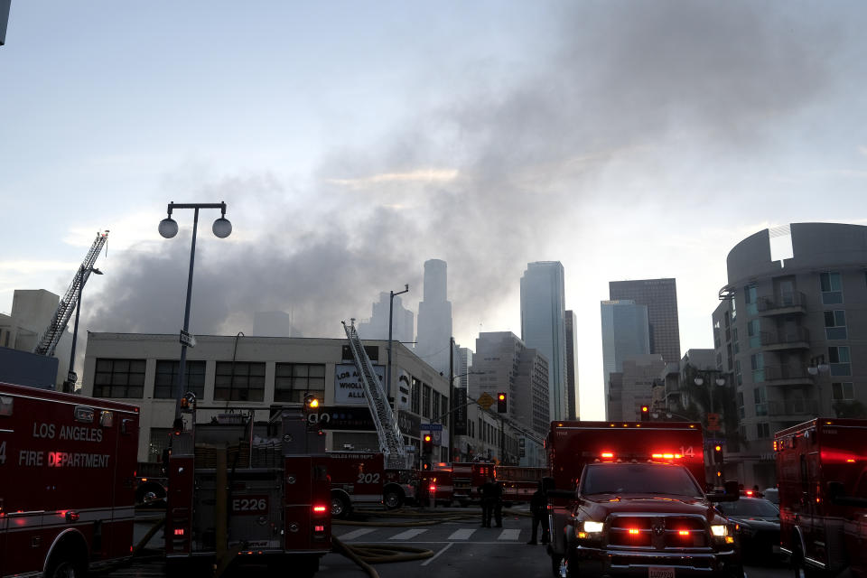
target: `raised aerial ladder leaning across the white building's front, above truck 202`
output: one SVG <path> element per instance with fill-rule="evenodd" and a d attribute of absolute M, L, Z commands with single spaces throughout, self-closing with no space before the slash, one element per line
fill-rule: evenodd
<path fill-rule="evenodd" d="M 385 467 L 386 469 L 406 470 L 411 467 L 411 464 L 407 460 L 404 437 L 397 426 L 395 414 L 391 411 L 391 405 L 388 403 L 382 382 L 379 381 L 374 372 L 373 364 L 361 344 L 359 333 L 355 329 L 355 320 L 350 320 L 349 325 L 346 322 L 341 323 L 343 323 L 346 337 L 350 341 L 352 359 L 355 360 L 355 367 L 359 370 L 361 385 L 364 387 L 364 396 L 370 407 L 370 415 L 373 416 L 373 422 L 377 426 L 379 451 L 383 454 Z"/>

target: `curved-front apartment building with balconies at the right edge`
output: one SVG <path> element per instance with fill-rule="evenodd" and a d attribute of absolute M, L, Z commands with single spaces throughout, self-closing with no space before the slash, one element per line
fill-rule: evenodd
<path fill-rule="evenodd" d="M 772 260 L 771 238 L 789 235 L 791 256 Z M 713 340 L 716 368 L 736 384 L 745 442 L 731 457 L 738 480 L 767 487 L 775 432 L 867 406 L 867 227 L 765 229 L 732 248 L 727 268 Z"/>

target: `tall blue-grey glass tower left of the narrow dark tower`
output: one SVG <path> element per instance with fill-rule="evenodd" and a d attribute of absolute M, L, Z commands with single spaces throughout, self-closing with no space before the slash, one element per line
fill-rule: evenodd
<path fill-rule="evenodd" d="M 521 339 L 548 359 L 549 410 L 552 420 L 565 419 L 566 327 L 563 265 L 528 263 L 521 277 Z"/>

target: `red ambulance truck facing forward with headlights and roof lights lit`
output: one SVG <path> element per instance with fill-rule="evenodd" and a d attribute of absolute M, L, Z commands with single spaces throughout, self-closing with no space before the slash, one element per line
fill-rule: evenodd
<path fill-rule="evenodd" d="M 701 424 L 553 422 L 545 440 L 552 572 L 741 578 L 733 522 L 704 494 Z"/>

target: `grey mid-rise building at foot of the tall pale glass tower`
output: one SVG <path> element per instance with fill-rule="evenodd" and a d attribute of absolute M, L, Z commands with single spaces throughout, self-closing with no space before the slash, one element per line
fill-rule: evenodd
<path fill-rule="evenodd" d="M 544 436 L 551 424 L 545 356 L 511 331 L 490 331 L 479 334 L 473 359 L 470 396 L 487 393 L 496 399 L 505 393 L 503 416 Z"/>

